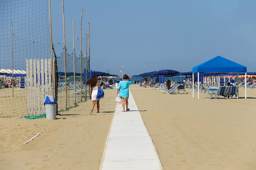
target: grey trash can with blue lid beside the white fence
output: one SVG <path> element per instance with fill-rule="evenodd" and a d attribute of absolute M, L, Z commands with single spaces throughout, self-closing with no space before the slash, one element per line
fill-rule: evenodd
<path fill-rule="evenodd" d="M 56 119 L 56 104 L 57 102 L 54 96 L 46 96 L 46 99 L 44 101 L 46 119 Z"/>

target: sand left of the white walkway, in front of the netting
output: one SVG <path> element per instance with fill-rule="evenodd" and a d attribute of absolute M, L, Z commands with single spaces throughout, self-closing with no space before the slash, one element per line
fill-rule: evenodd
<path fill-rule="evenodd" d="M 0 170 L 97 170 L 116 107 L 105 90 L 101 113 L 91 101 L 61 112 L 58 120 L 0 118 Z M 23 144 L 41 133 L 28 144 Z"/>

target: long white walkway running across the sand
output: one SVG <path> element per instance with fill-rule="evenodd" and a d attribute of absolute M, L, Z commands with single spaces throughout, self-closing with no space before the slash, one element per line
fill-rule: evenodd
<path fill-rule="evenodd" d="M 116 105 L 100 170 L 162 170 L 156 149 L 130 91 L 129 108 Z"/>

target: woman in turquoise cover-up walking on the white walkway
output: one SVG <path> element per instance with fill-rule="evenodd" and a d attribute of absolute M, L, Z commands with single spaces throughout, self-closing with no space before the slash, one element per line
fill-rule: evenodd
<path fill-rule="evenodd" d="M 123 76 L 123 80 L 120 81 L 118 86 L 118 91 L 119 91 L 118 96 L 121 97 L 122 99 L 123 112 L 125 111 L 125 105 L 126 105 L 126 111 L 130 111 L 130 109 L 128 108 L 128 98 L 129 98 L 129 85 L 131 84 L 132 84 L 131 80 L 125 74 Z"/>

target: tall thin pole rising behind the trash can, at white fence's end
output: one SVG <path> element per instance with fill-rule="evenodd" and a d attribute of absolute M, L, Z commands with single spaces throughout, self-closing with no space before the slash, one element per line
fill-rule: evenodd
<path fill-rule="evenodd" d="M 50 18 L 50 41 L 51 41 L 51 67 L 52 67 L 52 96 L 56 98 L 55 93 L 55 71 L 54 71 L 54 61 L 53 61 L 53 45 L 52 45 L 52 13 L 51 13 L 51 0 L 49 0 L 49 18 Z"/>

